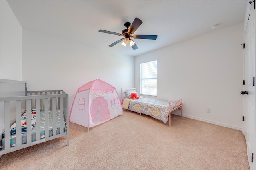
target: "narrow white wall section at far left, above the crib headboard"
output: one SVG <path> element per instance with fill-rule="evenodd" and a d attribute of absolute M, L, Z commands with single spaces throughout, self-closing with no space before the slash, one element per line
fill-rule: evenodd
<path fill-rule="evenodd" d="M 0 6 L 0 78 L 22 80 L 22 27 L 6 0 Z"/>

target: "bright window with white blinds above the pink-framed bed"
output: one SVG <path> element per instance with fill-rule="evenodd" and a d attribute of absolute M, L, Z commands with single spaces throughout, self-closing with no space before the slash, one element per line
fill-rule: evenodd
<path fill-rule="evenodd" d="M 157 60 L 140 64 L 140 94 L 156 96 Z"/>

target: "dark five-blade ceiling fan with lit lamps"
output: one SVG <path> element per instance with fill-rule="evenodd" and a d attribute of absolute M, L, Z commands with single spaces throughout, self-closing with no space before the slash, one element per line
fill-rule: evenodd
<path fill-rule="evenodd" d="M 99 30 L 99 32 L 104 32 L 108 34 L 114 34 L 118 36 L 123 36 L 124 38 L 121 38 L 120 40 L 117 40 L 116 42 L 109 45 L 109 47 L 113 47 L 114 45 L 122 42 L 122 45 L 126 47 L 127 44 L 130 44 L 132 49 L 138 49 L 137 45 L 131 38 L 138 38 L 138 39 L 149 39 L 149 40 L 156 40 L 157 35 L 134 35 L 134 32 L 139 28 L 139 26 L 142 24 L 142 20 L 139 18 L 135 18 L 132 24 L 130 22 L 124 23 L 124 26 L 126 29 L 122 30 L 122 34 L 106 31 L 106 30 Z"/>

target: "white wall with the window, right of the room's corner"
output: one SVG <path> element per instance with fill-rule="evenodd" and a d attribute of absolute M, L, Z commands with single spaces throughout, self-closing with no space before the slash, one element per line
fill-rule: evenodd
<path fill-rule="evenodd" d="M 135 57 L 136 87 L 139 64 L 157 59 L 158 98 L 182 98 L 184 117 L 242 130 L 243 28 L 241 22 Z"/>

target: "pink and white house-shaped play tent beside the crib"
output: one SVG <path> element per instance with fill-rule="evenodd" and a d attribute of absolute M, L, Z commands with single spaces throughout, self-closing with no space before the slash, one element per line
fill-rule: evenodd
<path fill-rule="evenodd" d="M 77 89 L 69 121 L 89 128 L 122 114 L 116 88 L 96 79 Z"/>

